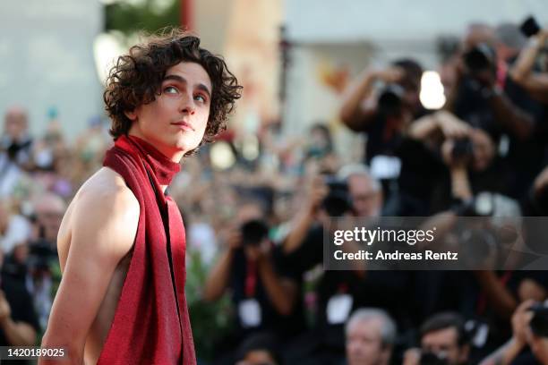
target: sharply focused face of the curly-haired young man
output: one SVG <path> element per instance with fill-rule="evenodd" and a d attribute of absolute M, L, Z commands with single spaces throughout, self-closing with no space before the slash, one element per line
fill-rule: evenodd
<path fill-rule="evenodd" d="M 126 113 L 133 121 L 129 134 L 178 162 L 203 138 L 210 117 L 210 76 L 200 64 L 182 62 L 167 70 L 159 92 L 150 104 Z"/>

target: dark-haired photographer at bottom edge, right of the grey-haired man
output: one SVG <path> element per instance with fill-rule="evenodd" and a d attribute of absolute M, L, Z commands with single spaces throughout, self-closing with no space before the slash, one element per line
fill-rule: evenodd
<path fill-rule="evenodd" d="M 404 365 L 467 364 L 470 345 L 464 319 L 457 313 L 443 312 L 428 318 L 420 329 L 420 349 L 409 349 Z"/>

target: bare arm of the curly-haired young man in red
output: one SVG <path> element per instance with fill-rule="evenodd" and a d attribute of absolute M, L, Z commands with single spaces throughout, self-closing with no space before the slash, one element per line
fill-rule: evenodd
<path fill-rule="evenodd" d="M 91 324 L 120 259 L 133 246 L 139 203 L 123 186 L 96 184 L 81 191 L 71 216 L 71 245 L 42 347 L 64 347 L 83 363 Z M 55 363 L 41 360 L 40 365 Z"/>

